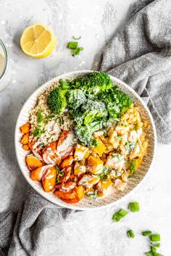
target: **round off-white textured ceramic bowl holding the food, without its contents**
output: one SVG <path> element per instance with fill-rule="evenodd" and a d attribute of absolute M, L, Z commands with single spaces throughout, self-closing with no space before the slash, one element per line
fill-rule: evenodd
<path fill-rule="evenodd" d="M 120 86 L 120 90 L 130 95 L 131 98 L 133 99 L 134 104 L 140 107 L 141 118 L 143 120 L 148 120 L 149 125 L 151 127 L 146 135 L 147 139 L 149 139 L 148 154 L 146 155 L 146 157 L 144 157 L 143 163 L 141 164 L 141 167 L 138 169 L 138 171 L 135 173 L 135 176 L 128 181 L 128 185 L 126 186 L 124 191 L 118 191 L 115 194 L 111 194 L 107 197 L 101 197 L 98 199 L 84 198 L 76 204 L 69 205 L 63 202 L 58 197 L 56 197 L 52 192 L 46 193 L 43 190 L 40 182 L 31 180 L 30 171 L 28 170 L 27 165 L 25 164 L 25 156 L 28 154 L 28 152 L 25 152 L 22 149 L 22 144 L 20 144 L 20 139 L 22 136 L 22 134 L 20 133 L 20 126 L 28 122 L 29 111 L 35 106 L 38 94 L 43 92 L 48 86 L 51 86 L 52 83 L 58 81 L 59 79 L 70 79 L 80 75 L 86 75 L 87 73 L 91 73 L 91 72 L 92 72 L 91 70 L 82 70 L 82 71 L 67 73 L 64 75 L 59 75 L 57 78 L 49 80 L 49 82 L 44 83 L 43 86 L 39 87 L 23 105 L 22 110 L 20 111 L 20 115 L 17 118 L 17 124 L 15 128 L 15 136 L 14 136 L 17 161 L 18 161 L 18 164 L 20 165 L 20 169 L 22 171 L 23 176 L 28 181 L 30 186 L 32 186 L 33 189 L 35 189 L 39 194 L 41 194 L 42 197 L 45 197 L 46 199 L 53 202 L 54 204 L 60 205 L 62 207 L 78 209 L 78 210 L 88 210 L 92 208 L 105 207 L 107 205 L 114 204 L 114 202 L 116 202 L 119 199 L 122 199 L 122 197 L 125 197 L 127 194 L 129 194 L 130 191 L 133 191 L 133 189 L 135 189 L 135 187 L 137 187 L 141 183 L 143 178 L 149 172 L 151 163 L 154 160 L 154 152 L 156 148 L 156 130 L 154 126 L 154 121 L 153 121 L 153 118 L 151 117 L 151 113 L 149 112 L 149 109 L 146 107 L 146 104 L 144 104 L 142 99 L 138 96 L 138 94 L 135 93 L 135 91 L 133 91 L 133 89 L 130 88 L 130 86 L 123 83 L 121 80 L 114 78 L 113 76 L 110 76 L 110 78 L 114 81 L 114 83 L 117 83 Z"/>

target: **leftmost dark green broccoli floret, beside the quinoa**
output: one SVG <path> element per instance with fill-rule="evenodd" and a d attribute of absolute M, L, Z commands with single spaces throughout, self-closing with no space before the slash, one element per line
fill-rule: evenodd
<path fill-rule="evenodd" d="M 67 107 L 67 100 L 64 94 L 65 91 L 60 87 L 54 88 L 54 90 L 50 92 L 47 104 L 54 114 L 61 115 L 64 112 L 65 107 Z"/>

